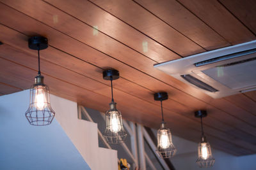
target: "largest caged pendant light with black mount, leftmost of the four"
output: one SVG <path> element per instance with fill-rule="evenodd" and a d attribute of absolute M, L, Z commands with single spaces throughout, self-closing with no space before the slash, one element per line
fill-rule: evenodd
<path fill-rule="evenodd" d="M 48 47 L 48 40 L 42 36 L 33 36 L 29 38 L 28 46 L 38 52 L 38 74 L 30 89 L 30 104 L 25 115 L 31 125 L 49 125 L 55 113 L 50 104 L 49 87 L 44 84 L 44 76 L 40 72 L 40 50 Z"/>

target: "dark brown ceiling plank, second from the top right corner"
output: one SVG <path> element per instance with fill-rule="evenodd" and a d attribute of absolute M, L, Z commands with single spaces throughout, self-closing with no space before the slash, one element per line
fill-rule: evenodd
<path fill-rule="evenodd" d="M 232 45 L 252 41 L 255 36 L 215 0 L 178 0 Z"/>

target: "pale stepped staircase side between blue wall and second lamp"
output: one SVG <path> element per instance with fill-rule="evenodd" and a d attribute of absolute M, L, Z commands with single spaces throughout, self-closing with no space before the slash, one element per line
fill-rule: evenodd
<path fill-rule="evenodd" d="M 77 103 L 56 96 L 51 96 L 51 103 L 56 120 L 88 166 L 92 170 L 117 170 L 117 151 L 99 147 L 97 124 L 77 118 Z"/>

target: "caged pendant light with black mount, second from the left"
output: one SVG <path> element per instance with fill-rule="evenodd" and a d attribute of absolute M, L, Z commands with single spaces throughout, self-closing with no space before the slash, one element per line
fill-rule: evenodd
<path fill-rule="evenodd" d="M 119 144 L 123 143 L 127 133 L 123 127 L 121 112 L 116 109 L 116 103 L 113 98 L 112 81 L 119 78 L 119 72 L 115 69 L 108 69 L 103 71 L 104 80 L 111 81 L 111 103 L 110 109 L 106 112 L 106 131 L 103 136 L 108 143 Z"/>

